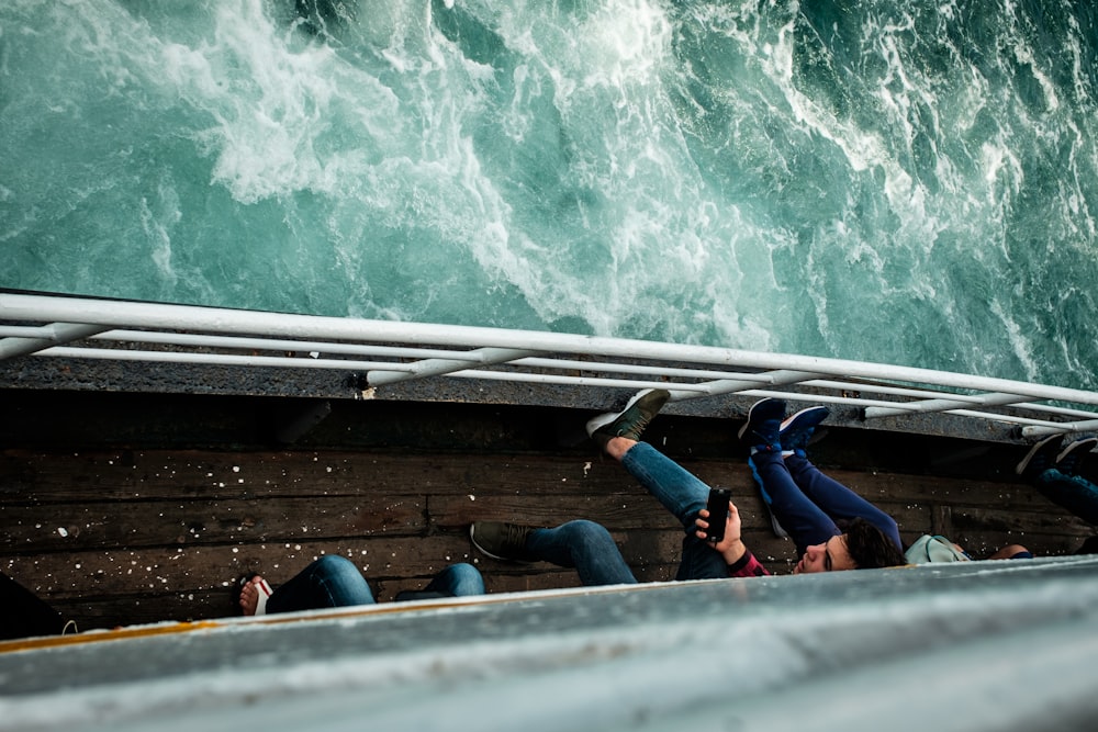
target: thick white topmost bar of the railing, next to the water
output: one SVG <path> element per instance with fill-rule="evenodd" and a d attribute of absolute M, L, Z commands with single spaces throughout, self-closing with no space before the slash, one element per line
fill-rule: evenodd
<path fill-rule="evenodd" d="M 48 297 L 0 293 L 0 312 L 5 317 L 34 322 L 76 320 L 115 327 L 154 327 L 212 333 L 268 334 L 337 340 L 381 340 L 385 342 L 514 348 L 539 352 L 570 352 L 623 358 L 652 358 L 669 361 L 737 364 L 760 370 L 792 370 L 859 379 L 882 379 L 937 384 L 950 388 L 1017 393 L 1028 398 L 1077 402 L 1098 405 L 1098 394 L 1082 390 L 1028 384 L 990 376 L 939 372 L 912 367 L 896 367 L 842 359 L 761 353 L 707 346 L 659 344 L 601 336 L 578 336 L 534 330 L 505 330 L 475 326 L 363 320 L 317 315 L 226 311 L 193 305 L 167 305 Z"/>

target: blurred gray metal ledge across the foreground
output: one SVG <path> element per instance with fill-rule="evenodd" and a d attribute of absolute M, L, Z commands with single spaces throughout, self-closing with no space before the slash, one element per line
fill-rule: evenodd
<path fill-rule="evenodd" d="M 1093 729 L 1098 558 L 668 583 L 0 644 L 0 729 Z"/>

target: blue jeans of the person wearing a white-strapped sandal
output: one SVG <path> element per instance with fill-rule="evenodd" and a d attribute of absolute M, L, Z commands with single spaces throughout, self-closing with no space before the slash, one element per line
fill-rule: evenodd
<path fill-rule="evenodd" d="M 472 565 L 455 564 L 442 570 L 427 589 L 438 593 L 437 597 L 483 595 L 484 581 Z M 370 585 L 354 562 L 327 555 L 276 589 L 267 600 L 267 612 L 373 605 L 374 601 Z"/>

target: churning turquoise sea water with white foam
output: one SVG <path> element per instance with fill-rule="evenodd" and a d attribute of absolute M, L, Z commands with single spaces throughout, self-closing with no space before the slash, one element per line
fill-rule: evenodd
<path fill-rule="evenodd" d="M 1098 10 L 4 0 L 0 286 L 1098 388 Z"/>

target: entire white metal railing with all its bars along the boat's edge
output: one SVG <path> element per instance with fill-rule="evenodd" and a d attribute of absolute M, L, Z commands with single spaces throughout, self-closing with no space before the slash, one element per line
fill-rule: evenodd
<path fill-rule="evenodd" d="M 662 387 L 673 401 L 780 395 L 856 406 L 871 420 L 948 413 L 1005 421 L 1031 438 L 1098 431 L 1098 393 L 929 369 L 534 330 L 0 292 L 0 361 L 29 356 L 337 369 L 365 372 L 370 388 L 446 376 Z"/>

